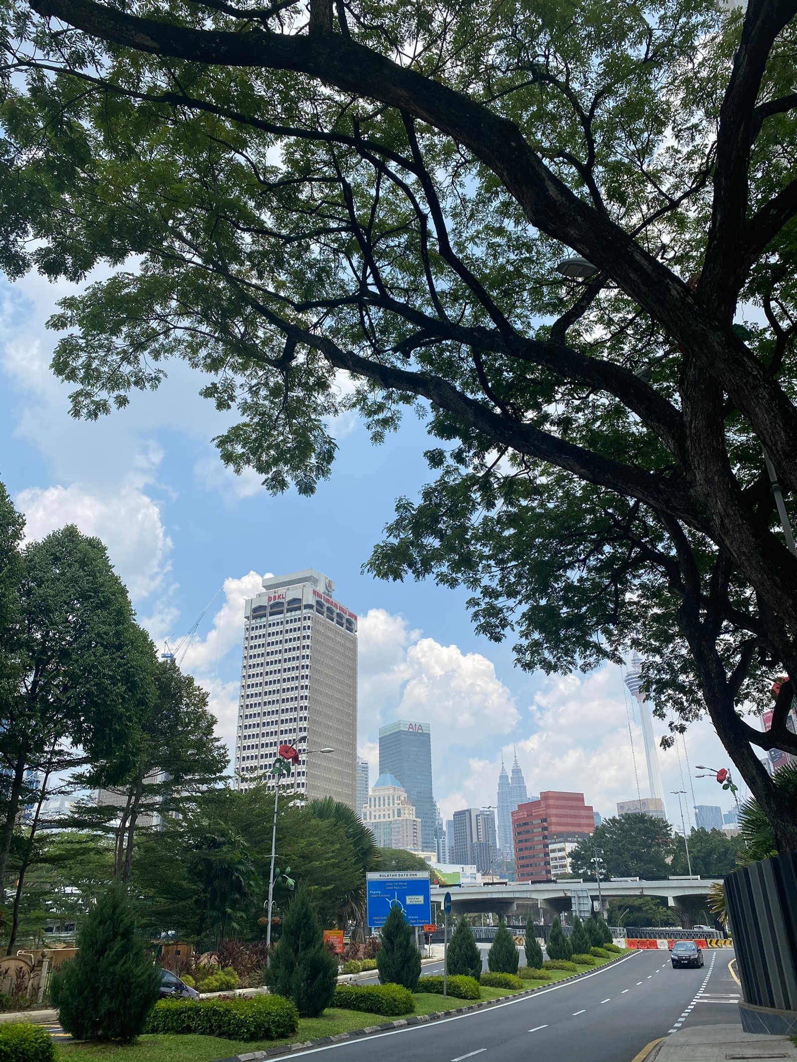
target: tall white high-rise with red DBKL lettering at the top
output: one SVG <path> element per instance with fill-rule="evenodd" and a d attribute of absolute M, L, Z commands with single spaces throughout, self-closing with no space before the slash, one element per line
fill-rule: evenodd
<path fill-rule="evenodd" d="M 307 568 L 264 579 L 262 593 L 245 602 L 235 768 L 245 790 L 281 744 L 293 744 L 295 789 L 355 808 L 357 617 L 334 589 Z M 306 755 L 305 748 L 334 752 Z M 274 786 L 270 777 L 266 784 Z"/>

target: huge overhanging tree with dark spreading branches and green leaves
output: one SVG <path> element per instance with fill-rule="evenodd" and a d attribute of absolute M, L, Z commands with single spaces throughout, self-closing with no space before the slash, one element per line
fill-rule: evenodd
<path fill-rule="evenodd" d="M 52 322 L 74 414 L 186 358 L 223 460 L 306 494 L 332 414 L 419 408 L 372 570 L 470 587 L 526 668 L 643 649 L 797 849 L 756 753 L 797 753 L 793 0 L 0 12 L 0 266 L 112 267 Z"/>

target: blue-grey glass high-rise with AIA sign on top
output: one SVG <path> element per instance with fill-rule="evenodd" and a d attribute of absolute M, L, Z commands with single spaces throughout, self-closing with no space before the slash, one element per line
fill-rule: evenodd
<path fill-rule="evenodd" d="M 431 789 L 431 727 L 398 719 L 379 727 L 379 774 L 392 774 L 404 787 L 421 820 L 423 851 L 435 852 L 437 807 Z"/>

